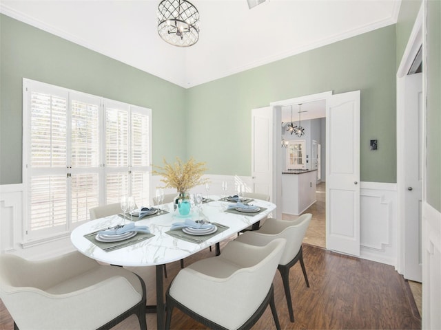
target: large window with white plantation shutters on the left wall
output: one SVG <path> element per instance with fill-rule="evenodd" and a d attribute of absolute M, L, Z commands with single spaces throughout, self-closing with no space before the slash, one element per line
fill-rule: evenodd
<path fill-rule="evenodd" d="M 151 111 L 23 80 L 25 237 L 70 232 L 89 209 L 149 201 Z"/>

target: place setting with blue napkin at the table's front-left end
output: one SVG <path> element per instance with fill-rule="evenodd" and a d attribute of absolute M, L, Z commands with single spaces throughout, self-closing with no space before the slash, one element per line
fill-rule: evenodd
<path fill-rule="evenodd" d="M 147 225 L 135 225 L 134 222 L 103 228 L 84 235 L 86 239 L 105 252 L 125 248 L 128 245 L 145 241 L 153 236 L 154 234 L 150 232 Z"/>

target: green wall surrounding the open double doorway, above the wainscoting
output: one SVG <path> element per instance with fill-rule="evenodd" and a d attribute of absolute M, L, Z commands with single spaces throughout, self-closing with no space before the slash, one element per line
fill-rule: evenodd
<path fill-rule="evenodd" d="M 206 160 L 210 173 L 250 175 L 252 109 L 360 89 L 360 179 L 396 182 L 395 41 L 391 25 L 192 87 L 187 155 Z M 378 151 L 369 150 L 371 139 L 378 140 Z"/>

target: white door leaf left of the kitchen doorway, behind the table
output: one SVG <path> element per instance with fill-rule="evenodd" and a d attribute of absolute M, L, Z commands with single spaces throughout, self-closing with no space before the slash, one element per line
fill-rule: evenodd
<path fill-rule="evenodd" d="M 269 195 L 273 182 L 273 111 L 272 107 L 252 110 L 252 182 L 253 191 Z"/>

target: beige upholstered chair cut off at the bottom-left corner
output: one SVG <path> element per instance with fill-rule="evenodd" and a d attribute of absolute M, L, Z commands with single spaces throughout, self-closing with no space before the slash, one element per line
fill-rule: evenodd
<path fill-rule="evenodd" d="M 132 314 L 147 329 L 143 280 L 79 252 L 45 261 L 1 255 L 0 298 L 14 329 L 110 329 Z"/>

